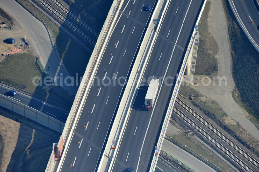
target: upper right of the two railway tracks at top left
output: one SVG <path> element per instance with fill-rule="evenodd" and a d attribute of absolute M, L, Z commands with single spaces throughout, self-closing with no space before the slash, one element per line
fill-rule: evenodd
<path fill-rule="evenodd" d="M 54 4 L 56 4 L 62 11 L 64 11 L 68 16 L 70 16 L 73 20 L 78 22 L 83 28 L 85 28 L 90 34 L 98 38 L 99 33 L 92 29 L 87 23 L 82 21 L 79 17 L 75 15 L 72 11 L 70 11 L 66 6 L 64 6 L 58 0 L 51 0 Z"/>

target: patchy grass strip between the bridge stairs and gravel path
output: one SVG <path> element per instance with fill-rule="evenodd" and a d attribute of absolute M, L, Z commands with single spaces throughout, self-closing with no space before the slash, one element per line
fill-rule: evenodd
<path fill-rule="evenodd" d="M 208 14 L 211 8 L 211 2 L 207 1 L 199 21 L 199 46 L 197 52 L 197 60 L 195 74 L 211 75 L 218 71 L 218 62 L 215 58 L 218 53 L 218 43 L 214 37 L 208 32 Z"/>

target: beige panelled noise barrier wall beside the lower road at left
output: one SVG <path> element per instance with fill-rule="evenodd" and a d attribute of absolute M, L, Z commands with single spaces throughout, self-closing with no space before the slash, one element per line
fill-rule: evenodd
<path fill-rule="evenodd" d="M 65 125 L 63 122 L 51 116 L 48 116 L 42 113 L 41 111 L 31 108 L 23 103 L 20 103 L 2 94 L 0 94 L 0 106 L 3 108 L 9 109 L 11 111 L 14 111 L 17 114 L 20 114 L 22 116 L 25 116 L 26 118 L 29 118 L 35 122 L 38 122 L 59 133 L 62 132 Z"/>

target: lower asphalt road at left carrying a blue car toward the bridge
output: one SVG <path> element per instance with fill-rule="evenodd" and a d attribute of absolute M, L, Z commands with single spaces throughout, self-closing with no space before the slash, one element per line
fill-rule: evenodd
<path fill-rule="evenodd" d="M 10 91 L 10 88 L 0 86 L 0 94 L 8 96 L 8 92 Z M 67 117 L 70 111 L 70 107 L 67 108 L 59 108 L 56 106 L 53 106 L 52 104 L 45 103 L 39 99 L 33 98 L 31 96 L 25 95 L 23 93 L 17 92 L 17 94 L 13 97 L 8 96 L 9 98 L 23 103 L 29 107 L 32 107 L 34 109 L 37 109 L 41 111 L 42 113 L 49 115 L 50 117 L 53 117 L 63 123 L 67 121 Z"/>

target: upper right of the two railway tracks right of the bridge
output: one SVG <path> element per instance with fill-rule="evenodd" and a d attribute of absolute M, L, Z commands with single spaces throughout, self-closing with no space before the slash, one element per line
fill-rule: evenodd
<path fill-rule="evenodd" d="M 213 133 L 215 133 L 221 140 L 223 140 L 226 144 L 228 144 L 230 147 L 235 149 L 236 152 L 238 152 L 241 156 L 243 156 L 246 160 L 248 160 L 251 164 L 253 164 L 254 167 L 256 167 L 259 170 L 259 163 L 253 157 L 251 157 L 248 153 L 246 153 L 243 149 L 241 149 L 237 144 L 235 144 L 234 141 L 232 141 L 227 136 L 225 136 L 216 127 L 214 127 L 212 124 L 210 124 L 208 121 L 206 121 L 206 119 L 204 119 L 202 116 L 200 116 L 195 110 L 193 110 L 191 107 L 189 107 L 186 103 L 184 103 L 179 98 L 176 98 L 176 103 L 179 104 L 186 111 L 188 111 L 199 122 L 201 122 L 203 125 L 205 125 L 209 130 L 211 130 Z"/>

